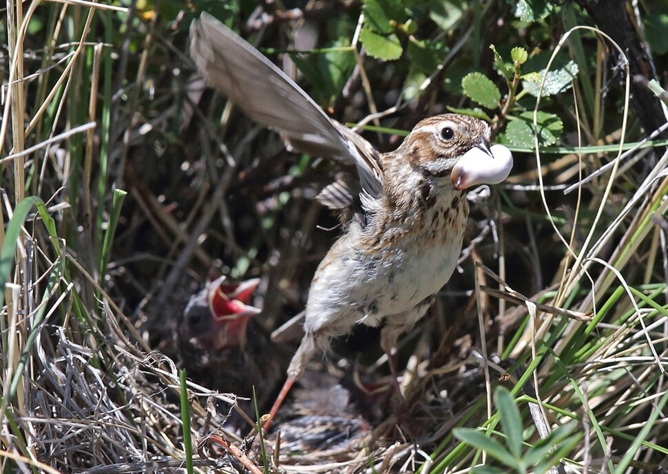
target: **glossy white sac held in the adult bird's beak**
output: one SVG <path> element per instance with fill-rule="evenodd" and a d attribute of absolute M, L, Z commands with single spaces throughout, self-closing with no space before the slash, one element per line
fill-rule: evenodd
<path fill-rule="evenodd" d="M 503 145 L 492 145 L 480 139 L 464 153 L 450 173 L 452 186 L 463 191 L 478 184 L 497 184 L 512 169 L 512 153 Z"/>

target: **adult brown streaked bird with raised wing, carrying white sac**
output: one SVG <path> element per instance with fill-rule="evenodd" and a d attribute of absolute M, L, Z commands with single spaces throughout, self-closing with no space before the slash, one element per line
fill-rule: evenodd
<path fill-rule="evenodd" d="M 355 177 L 320 195 L 327 206 L 344 211 L 348 222 L 313 277 L 304 337 L 271 422 L 306 362 L 326 351 L 333 337 L 357 324 L 382 325 L 381 345 L 391 354 L 399 335 L 424 316 L 455 269 L 468 218 L 464 190 L 505 180 L 512 154 L 502 145 L 490 146 L 486 122 L 459 114 L 426 118 L 398 149 L 379 153 L 208 14 L 191 26 L 191 56 L 209 85 L 254 120 L 277 129 L 289 149 L 357 169 Z M 390 368 L 396 376 L 391 363 Z"/>

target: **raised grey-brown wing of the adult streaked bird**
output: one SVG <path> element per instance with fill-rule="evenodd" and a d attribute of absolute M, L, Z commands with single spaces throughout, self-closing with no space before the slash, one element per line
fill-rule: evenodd
<path fill-rule="evenodd" d="M 362 189 L 371 197 L 379 195 L 383 173 L 373 147 L 326 116 L 255 47 L 207 13 L 192 23 L 190 38 L 190 54 L 211 87 L 253 120 L 280 131 L 288 147 L 354 162 Z"/>

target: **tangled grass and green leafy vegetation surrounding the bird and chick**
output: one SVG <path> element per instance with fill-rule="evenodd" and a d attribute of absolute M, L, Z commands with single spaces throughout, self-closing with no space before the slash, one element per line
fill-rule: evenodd
<path fill-rule="evenodd" d="M 313 361 L 283 440 L 255 440 L 266 407 L 246 421 L 236 394 L 180 376 L 181 315 L 212 275 L 260 278 L 263 332 L 303 310 L 340 233 L 314 197 L 345 171 L 287 151 L 205 87 L 188 55 L 203 11 L 382 151 L 447 111 L 488 120 L 512 149 L 508 180 L 468 196 L 459 271 L 401 338 L 410 413 L 395 409 L 374 330 Z M 4 13 L 3 472 L 668 469 L 665 3 L 65 0 Z M 213 380 L 242 371 L 209 367 Z"/>

